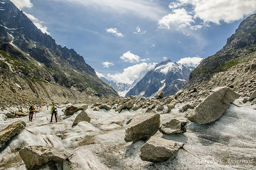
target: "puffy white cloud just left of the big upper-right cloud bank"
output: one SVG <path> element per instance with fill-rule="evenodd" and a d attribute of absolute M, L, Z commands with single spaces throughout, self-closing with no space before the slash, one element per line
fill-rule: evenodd
<path fill-rule="evenodd" d="M 192 19 L 193 16 L 184 9 L 174 9 L 172 14 L 164 16 L 161 20 L 158 21 L 159 28 L 168 28 L 174 26 L 177 28 L 185 28 L 191 26 L 191 23 L 195 21 Z"/>

